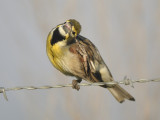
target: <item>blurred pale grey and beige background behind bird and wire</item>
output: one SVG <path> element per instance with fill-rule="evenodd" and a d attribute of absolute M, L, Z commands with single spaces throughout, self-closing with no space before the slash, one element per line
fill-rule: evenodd
<path fill-rule="evenodd" d="M 0 87 L 69 84 L 46 55 L 46 38 L 74 18 L 115 80 L 160 77 L 160 0 L 1 0 Z M 160 83 L 122 85 L 136 99 L 119 104 L 100 87 L 0 94 L 2 120 L 159 120 Z"/>

